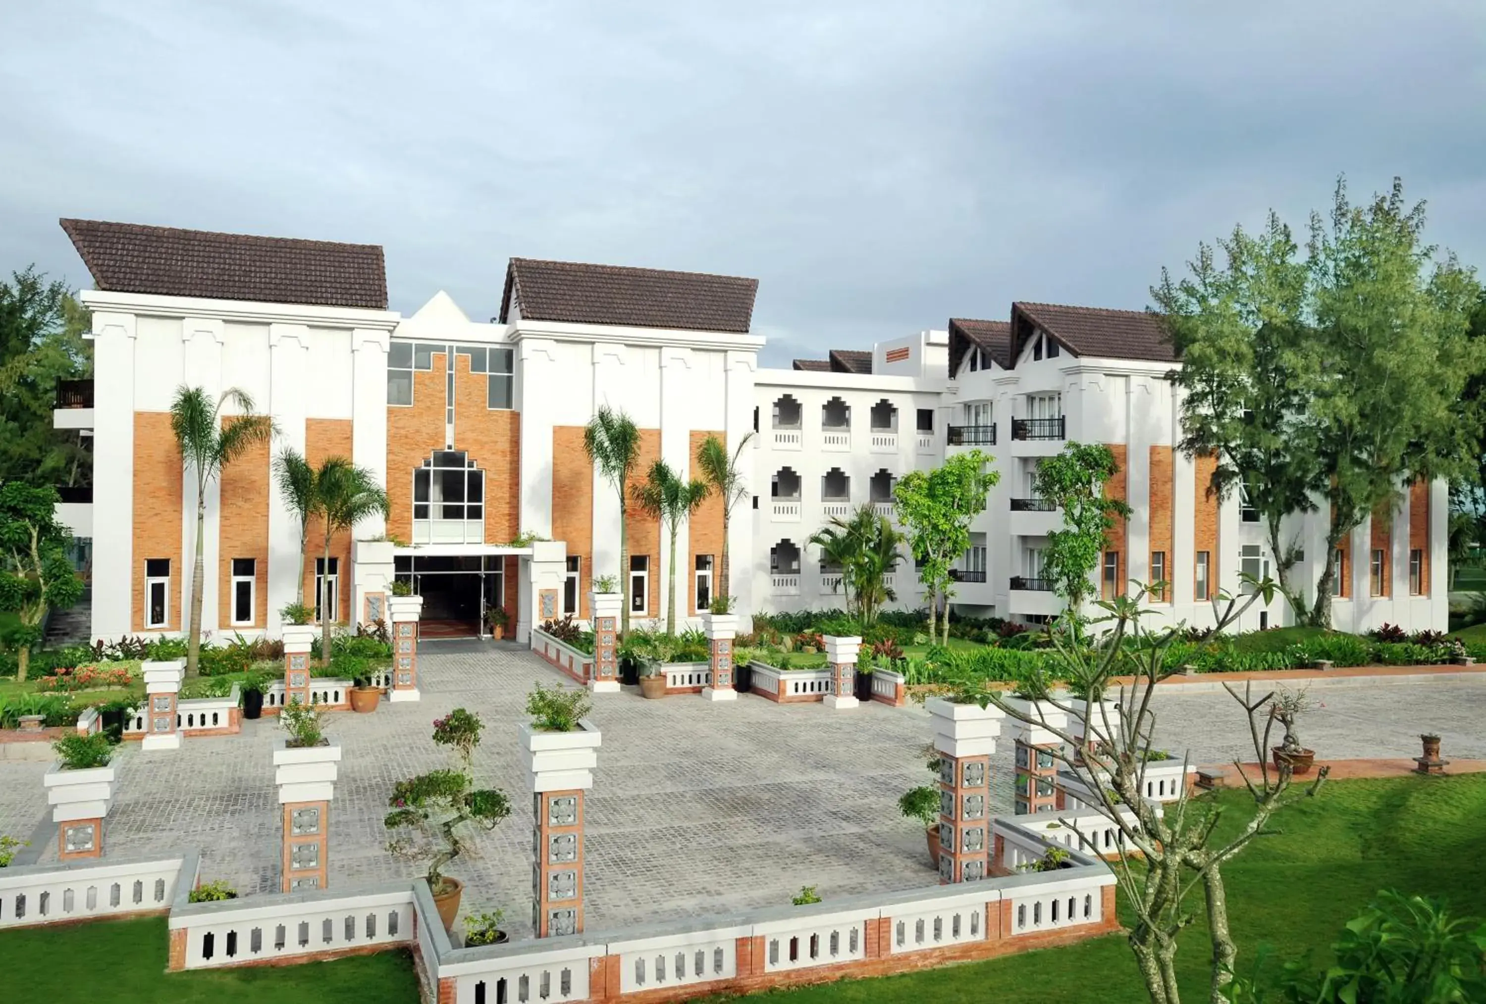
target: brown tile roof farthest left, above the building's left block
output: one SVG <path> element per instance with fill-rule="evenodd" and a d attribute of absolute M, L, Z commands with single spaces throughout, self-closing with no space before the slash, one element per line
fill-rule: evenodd
<path fill-rule="evenodd" d="M 62 220 L 100 290 L 212 300 L 386 309 L 374 244 L 334 244 Z"/>

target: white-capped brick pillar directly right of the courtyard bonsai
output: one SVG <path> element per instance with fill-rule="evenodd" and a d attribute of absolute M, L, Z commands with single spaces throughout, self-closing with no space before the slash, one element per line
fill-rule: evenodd
<path fill-rule="evenodd" d="M 583 793 L 593 787 L 602 735 L 583 719 L 572 732 L 522 725 L 522 759 L 535 817 L 532 928 L 536 937 L 583 933 Z"/>

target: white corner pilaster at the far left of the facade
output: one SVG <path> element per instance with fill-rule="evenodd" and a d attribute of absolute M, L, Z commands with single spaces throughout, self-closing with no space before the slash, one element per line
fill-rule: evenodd
<path fill-rule="evenodd" d="M 92 316 L 95 639 L 135 630 L 134 322 L 132 313 Z"/>

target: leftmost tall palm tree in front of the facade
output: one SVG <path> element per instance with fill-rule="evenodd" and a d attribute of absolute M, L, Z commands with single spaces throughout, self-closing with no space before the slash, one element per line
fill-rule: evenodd
<path fill-rule="evenodd" d="M 230 404 L 241 414 L 221 420 L 223 405 Z M 227 388 L 215 402 L 201 388 L 181 385 L 171 401 L 171 432 L 181 452 L 181 463 L 196 472 L 196 560 L 190 576 L 190 628 L 186 646 L 186 674 L 195 676 L 201 661 L 201 603 L 207 578 L 202 547 L 207 536 L 207 486 L 221 475 L 221 469 L 248 449 L 267 443 L 275 429 L 273 419 L 253 413 L 253 398 L 238 388 Z"/>

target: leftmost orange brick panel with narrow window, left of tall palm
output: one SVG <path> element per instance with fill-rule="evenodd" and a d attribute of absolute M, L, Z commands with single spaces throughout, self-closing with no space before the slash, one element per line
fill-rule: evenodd
<path fill-rule="evenodd" d="M 166 631 L 181 630 L 181 454 L 171 432 L 169 411 L 134 413 L 134 630 L 144 630 L 144 561 L 171 560 Z"/>

